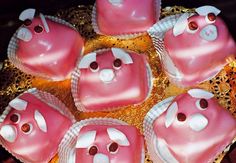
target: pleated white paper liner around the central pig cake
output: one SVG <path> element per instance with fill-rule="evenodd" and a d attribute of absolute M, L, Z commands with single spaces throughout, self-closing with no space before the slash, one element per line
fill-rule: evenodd
<path fill-rule="evenodd" d="M 105 52 L 105 51 L 108 51 L 110 50 L 109 48 L 106 48 L 106 49 L 99 49 L 99 50 L 96 50 L 94 51 L 95 53 L 102 53 L 102 52 Z M 129 51 L 129 50 L 126 50 L 127 52 L 133 52 L 133 51 Z M 86 55 L 86 54 L 85 54 Z M 139 54 L 138 54 L 139 55 Z M 78 65 L 79 63 L 77 63 Z M 152 88 L 153 88 L 153 76 L 152 76 L 152 70 L 151 70 L 151 67 L 149 65 L 149 63 L 147 62 L 146 63 L 146 71 L 147 71 L 147 77 L 148 77 L 148 93 L 147 93 L 147 97 L 145 98 L 148 99 L 149 96 L 151 95 L 151 92 L 152 92 Z M 79 67 L 77 66 L 74 71 L 72 72 L 72 75 L 71 75 L 71 92 L 72 92 L 72 96 L 73 96 L 73 99 L 74 99 L 74 103 L 75 103 L 75 106 L 77 107 L 78 110 L 82 111 L 82 112 L 97 112 L 97 111 L 114 111 L 114 110 L 119 110 L 123 107 L 126 107 L 128 105 L 124 105 L 124 106 L 118 106 L 118 107 L 109 107 L 109 108 L 102 108 L 102 109 L 99 109 L 97 111 L 95 110 L 87 110 L 86 107 L 82 104 L 78 94 L 79 94 L 79 80 L 80 80 L 80 70 L 79 70 Z M 141 103 L 143 103 L 145 100 L 141 101 L 140 103 L 136 103 L 136 104 L 131 104 L 131 105 L 139 105 Z"/>

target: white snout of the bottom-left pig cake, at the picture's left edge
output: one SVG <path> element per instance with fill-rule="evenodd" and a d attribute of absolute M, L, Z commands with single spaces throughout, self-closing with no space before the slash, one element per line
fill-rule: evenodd
<path fill-rule="evenodd" d="M 8 142 L 13 143 L 17 136 L 17 131 L 12 125 L 3 125 L 0 129 L 0 135 Z"/>

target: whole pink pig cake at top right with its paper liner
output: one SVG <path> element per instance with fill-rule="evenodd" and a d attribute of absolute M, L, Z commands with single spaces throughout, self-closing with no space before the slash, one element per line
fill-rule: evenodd
<path fill-rule="evenodd" d="M 209 80 L 236 56 L 235 42 L 219 13 L 203 6 L 196 13 L 167 17 L 149 30 L 175 84 L 186 87 Z"/>

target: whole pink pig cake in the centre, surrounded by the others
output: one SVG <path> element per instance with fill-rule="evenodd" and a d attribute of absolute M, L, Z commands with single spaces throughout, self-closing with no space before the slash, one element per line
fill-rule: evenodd
<path fill-rule="evenodd" d="M 86 54 L 72 73 L 72 95 L 81 111 L 138 104 L 147 98 L 150 88 L 146 56 L 119 48 Z"/>

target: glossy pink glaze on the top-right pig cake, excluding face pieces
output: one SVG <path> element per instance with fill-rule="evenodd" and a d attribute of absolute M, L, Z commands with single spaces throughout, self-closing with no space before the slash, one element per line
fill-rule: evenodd
<path fill-rule="evenodd" d="M 165 48 L 183 75 L 180 85 L 191 86 L 213 77 L 227 63 L 228 58 L 235 56 L 235 42 L 219 17 L 211 23 L 217 28 L 217 38 L 207 41 L 200 37 L 201 30 L 209 25 L 205 19 L 205 16 L 188 18 L 188 22 L 198 24 L 198 31 L 194 34 L 188 33 L 187 29 L 178 36 L 173 35 L 172 29 L 165 34 Z"/>

